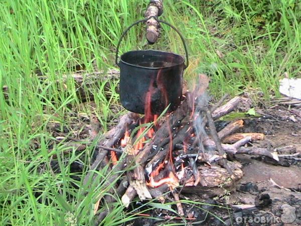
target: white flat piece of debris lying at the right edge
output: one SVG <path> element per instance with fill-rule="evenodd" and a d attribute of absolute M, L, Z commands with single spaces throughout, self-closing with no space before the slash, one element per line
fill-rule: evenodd
<path fill-rule="evenodd" d="M 301 78 L 281 79 L 279 92 L 292 98 L 301 99 Z"/>

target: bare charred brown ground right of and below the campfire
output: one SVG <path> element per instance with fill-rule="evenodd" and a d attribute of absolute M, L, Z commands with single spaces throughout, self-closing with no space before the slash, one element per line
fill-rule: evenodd
<path fill-rule="evenodd" d="M 244 119 L 240 131 L 266 135 L 265 140 L 253 145 L 277 151 L 279 155 L 301 152 L 301 109 L 277 105 L 256 112 L 261 117 Z M 207 206 L 208 211 L 225 223 L 209 215 L 196 225 L 301 225 L 301 158 L 279 162 L 246 154 L 235 158 L 244 166 L 244 176 L 235 186 L 223 188 L 223 194 L 205 199 L 206 192 L 185 195 L 230 208 Z M 205 213 L 201 211 L 199 215 Z"/>

